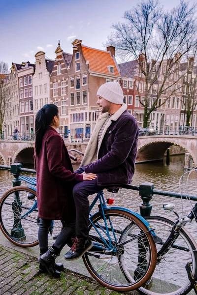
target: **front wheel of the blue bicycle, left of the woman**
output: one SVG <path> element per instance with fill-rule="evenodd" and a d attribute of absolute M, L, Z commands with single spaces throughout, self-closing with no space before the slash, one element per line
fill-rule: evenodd
<path fill-rule="evenodd" d="M 35 198 L 28 199 L 33 194 Z M 38 210 L 26 214 L 34 205 L 36 192 L 26 186 L 16 186 L 8 190 L 0 199 L 0 229 L 12 243 L 21 247 L 38 244 Z"/>

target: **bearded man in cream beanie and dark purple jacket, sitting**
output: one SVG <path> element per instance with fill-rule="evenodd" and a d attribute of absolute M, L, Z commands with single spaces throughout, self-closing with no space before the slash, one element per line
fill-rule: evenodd
<path fill-rule="evenodd" d="M 66 260 L 76 260 L 93 243 L 88 235 L 88 196 L 112 185 L 131 183 L 137 154 L 138 126 L 123 103 L 123 91 L 117 82 L 100 86 L 97 104 L 102 114 L 97 121 L 77 173 L 94 173 L 92 181 L 77 183 L 73 188 L 76 206 L 76 237 Z"/>

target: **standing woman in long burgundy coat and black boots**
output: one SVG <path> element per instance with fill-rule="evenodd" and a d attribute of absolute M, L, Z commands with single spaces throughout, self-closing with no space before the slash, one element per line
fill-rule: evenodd
<path fill-rule="evenodd" d="M 60 277 L 63 264 L 55 259 L 75 231 L 75 207 L 73 186 L 83 180 L 96 179 L 96 175 L 73 173 L 72 164 L 60 134 L 58 107 L 44 105 L 35 118 L 34 167 L 37 181 L 37 204 L 39 216 L 38 240 L 40 247 L 39 270 Z M 52 220 L 64 220 L 65 227 L 52 247 L 48 249 L 48 233 Z"/>

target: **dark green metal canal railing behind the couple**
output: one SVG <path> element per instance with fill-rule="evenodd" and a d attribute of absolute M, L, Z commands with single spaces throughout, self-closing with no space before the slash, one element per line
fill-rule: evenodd
<path fill-rule="evenodd" d="M 14 179 L 12 180 L 13 186 L 21 185 L 21 180 L 19 178 L 21 172 L 36 173 L 35 170 L 33 169 L 23 168 L 23 165 L 20 163 L 14 163 L 11 166 L 0 165 L 0 169 L 10 170 L 10 172 L 14 176 Z M 156 190 L 154 189 L 154 184 L 151 182 L 144 182 L 144 183 L 141 183 L 139 186 L 124 184 L 122 185 L 122 188 L 139 191 L 139 196 L 142 199 L 142 204 L 139 206 L 140 214 L 142 216 L 150 216 L 151 210 L 152 210 L 152 205 L 150 204 L 150 201 L 153 198 L 153 195 L 166 196 L 166 197 L 172 197 L 172 198 L 178 198 L 178 199 L 182 198 L 184 200 L 187 200 L 188 198 L 190 198 L 190 200 L 197 202 L 197 196 L 184 195 L 184 194 L 181 195 L 174 192 Z"/>

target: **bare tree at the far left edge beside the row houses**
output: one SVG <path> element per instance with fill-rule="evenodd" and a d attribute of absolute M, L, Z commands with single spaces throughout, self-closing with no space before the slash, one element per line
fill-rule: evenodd
<path fill-rule="evenodd" d="M 9 68 L 8 64 L 0 61 L 0 135 L 2 134 L 2 124 L 5 116 L 6 103 L 9 95 Z"/>

